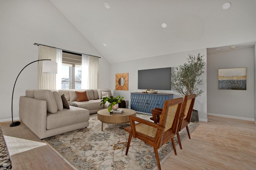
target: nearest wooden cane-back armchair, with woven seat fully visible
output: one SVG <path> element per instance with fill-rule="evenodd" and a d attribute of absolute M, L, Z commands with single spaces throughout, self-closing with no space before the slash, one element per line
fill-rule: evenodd
<path fill-rule="evenodd" d="M 130 116 L 131 126 L 124 128 L 124 130 L 129 132 L 126 155 L 128 154 L 132 136 L 134 138 L 139 138 L 148 145 L 154 147 L 156 162 L 159 170 L 161 169 L 161 166 L 158 156 L 158 149 L 164 143 L 171 139 L 174 153 L 177 155 L 173 137 L 176 135 L 178 130 L 182 101 L 183 98 L 166 100 L 164 102 L 164 108 L 160 115 L 160 121 L 158 124 L 139 117 Z M 135 121 L 139 123 L 135 124 Z"/>

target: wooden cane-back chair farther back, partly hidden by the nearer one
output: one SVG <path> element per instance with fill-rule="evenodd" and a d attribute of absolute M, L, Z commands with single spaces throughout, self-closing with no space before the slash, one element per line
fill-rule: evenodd
<path fill-rule="evenodd" d="M 190 94 L 186 95 L 184 97 L 183 103 L 182 103 L 182 109 L 181 109 L 181 114 L 180 114 L 180 121 L 178 125 L 178 132 L 177 132 L 177 137 L 180 145 L 180 149 L 182 149 L 181 142 L 180 142 L 180 135 L 179 131 L 181 131 L 184 127 L 186 127 L 187 132 L 188 132 L 188 138 L 190 138 L 190 133 L 188 130 L 188 125 L 191 120 L 191 115 L 194 107 L 194 103 L 196 100 L 196 94 Z"/>

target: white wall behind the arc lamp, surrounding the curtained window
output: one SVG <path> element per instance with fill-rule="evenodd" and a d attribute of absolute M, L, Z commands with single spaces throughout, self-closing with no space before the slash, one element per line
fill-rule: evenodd
<path fill-rule="evenodd" d="M 0 120 L 11 120 L 14 82 L 26 64 L 38 60 L 34 43 L 102 57 L 80 32 L 48 0 L 0 1 Z M 109 88 L 110 64 L 100 59 L 99 88 Z M 20 74 L 14 90 L 14 118 L 18 119 L 19 97 L 37 88 L 37 63 Z"/>

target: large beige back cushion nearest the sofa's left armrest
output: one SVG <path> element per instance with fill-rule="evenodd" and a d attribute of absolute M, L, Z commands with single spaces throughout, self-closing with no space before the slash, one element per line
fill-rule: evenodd
<path fill-rule="evenodd" d="M 58 111 L 57 103 L 51 90 L 35 90 L 34 98 L 39 100 L 46 100 L 48 112 L 56 113 L 56 111 Z"/>

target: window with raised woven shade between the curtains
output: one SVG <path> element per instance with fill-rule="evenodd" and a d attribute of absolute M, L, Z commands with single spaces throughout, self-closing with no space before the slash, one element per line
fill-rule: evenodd
<path fill-rule="evenodd" d="M 62 51 L 62 89 L 81 89 L 82 56 Z"/>

